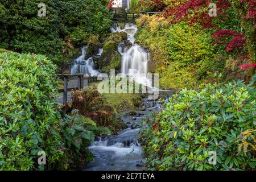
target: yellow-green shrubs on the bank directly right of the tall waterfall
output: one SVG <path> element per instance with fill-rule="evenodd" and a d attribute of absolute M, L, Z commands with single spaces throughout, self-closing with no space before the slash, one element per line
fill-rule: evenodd
<path fill-rule="evenodd" d="M 164 18 L 146 15 L 137 20 L 137 25 L 136 40 L 150 49 L 150 68 L 160 73 L 161 88 L 191 87 L 224 67 L 215 61 L 216 46 L 211 45 L 210 32 L 200 26 L 168 25 Z"/>

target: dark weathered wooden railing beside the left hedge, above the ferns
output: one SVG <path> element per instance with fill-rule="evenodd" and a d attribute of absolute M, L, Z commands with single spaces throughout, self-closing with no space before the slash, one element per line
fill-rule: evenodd
<path fill-rule="evenodd" d="M 84 74 L 77 74 L 77 75 L 57 75 L 57 77 L 63 79 L 63 89 L 59 89 L 59 93 L 63 93 L 63 114 L 67 113 L 67 100 L 68 100 L 68 92 L 72 90 L 80 90 L 84 88 L 84 80 L 88 80 L 88 84 L 90 82 L 97 82 L 97 77 L 84 77 Z M 75 88 L 68 88 L 68 81 L 70 80 L 77 80 L 77 86 Z"/>

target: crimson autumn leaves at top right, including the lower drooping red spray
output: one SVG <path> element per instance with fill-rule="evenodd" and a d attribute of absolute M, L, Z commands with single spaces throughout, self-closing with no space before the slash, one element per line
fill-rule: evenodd
<path fill-rule="evenodd" d="M 234 9 L 236 6 L 237 11 L 243 11 L 242 19 L 250 19 L 252 26 L 255 26 L 256 19 L 256 1 L 255 0 L 187 0 L 177 1 L 169 0 L 168 4 L 165 4 L 165 0 L 142 0 L 143 4 L 152 9 L 164 10 L 166 18 L 170 19 L 170 23 L 187 22 L 190 25 L 200 24 L 204 28 L 217 28 L 214 24 L 214 16 L 209 16 L 209 4 L 214 2 L 217 7 L 217 18 L 225 20 L 227 17 L 227 10 Z M 233 5 L 232 5 L 233 4 Z M 224 43 L 226 45 L 226 51 L 232 51 L 234 48 L 242 47 L 245 43 L 245 35 L 238 34 L 232 30 L 219 30 L 213 34 L 213 38 L 216 38 L 216 44 Z M 225 42 L 225 38 L 229 39 Z"/>

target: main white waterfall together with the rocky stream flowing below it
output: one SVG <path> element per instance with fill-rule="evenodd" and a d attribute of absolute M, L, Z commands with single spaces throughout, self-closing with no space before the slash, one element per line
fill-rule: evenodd
<path fill-rule="evenodd" d="M 135 43 L 134 35 L 137 26 L 133 23 L 126 23 L 121 30 L 119 24 L 112 28 L 112 32 L 125 31 L 127 42 L 118 46 L 122 56 L 121 73 L 125 76 L 133 76 L 135 81 L 149 88 L 151 81 L 147 78 L 147 64 L 150 61 L 150 53 Z M 157 88 L 158 89 L 158 88 Z M 168 98 L 168 93 L 163 94 Z M 94 155 L 94 161 L 86 164 L 82 170 L 88 171 L 142 171 L 144 170 L 145 159 L 142 147 L 138 142 L 137 135 L 139 126 L 148 114 L 159 112 L 161 105 L 159 101 L 143 98 L 142 110 L 128 110 L 122 113 L 122 121 L 128 126 L 127 129 L 119 131 L 117 135 L 105 138 L 98 137 L 89 147 Z"/>

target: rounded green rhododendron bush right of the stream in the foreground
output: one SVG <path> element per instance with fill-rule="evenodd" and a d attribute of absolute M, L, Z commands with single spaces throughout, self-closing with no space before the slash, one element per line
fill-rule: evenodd
<path fill-rule="evenodd" d="M 254 80 L 183 89 L 162 112 L 144 122 L 141 140 L 149 169 L 255 169 L 256 92 Z M 146 126 L 147 125 L 147 126 Z M 251 137 L 250 137 L 251 136 Z M 252 137 L 253 136 L 253 137 Z M 246 137 L 246 138 L 245 138 Z M 247 147 L 242 151 L 242 147 Z M 210 165 L 209 152 L 217 163 Z"/>

